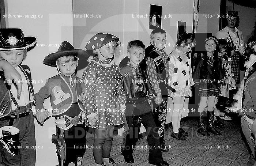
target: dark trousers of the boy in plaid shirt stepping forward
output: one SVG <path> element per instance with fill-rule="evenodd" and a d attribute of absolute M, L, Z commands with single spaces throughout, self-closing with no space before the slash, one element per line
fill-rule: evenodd
<path fill-rule="evenodd" d="M 126 105 L 126 120 L 129 127 L 129 133 L 126 137 L 126 143 L 125 143 L 125 150 L 123 151 L 124 155 L 132 156 L 132 147 L 136 145 L 136 142 L 138 141 L 138 135 L 139 135 L 139 128 L 133 127 L 132 125 L 132 114 L 133 111 L 137 109 L 138 111 L 136 114 L 139 114 L 142 118 L 142 124 L 146 128 L 146 135 L 147 136 L 147 142 L 148 145 L 151 147 L 149 149 L 149 156 L 148 161 L 149 162 L 161 162 L 163 160 L 162 152 L 160 149 L 160 142 L 159 142 L 159 136 L 158 136 L 158 127 L 156 127 L 153 114 L 151 111 L 151 107 L 148 104 L 148 102 L 145 102 L 140 105 L 136 105 L 134 107 L 131 104 Z"/>

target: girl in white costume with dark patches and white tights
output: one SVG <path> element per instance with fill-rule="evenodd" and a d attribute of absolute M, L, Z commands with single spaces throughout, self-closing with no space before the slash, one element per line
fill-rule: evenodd
<path fill-rule="evenodd" d="M 194 82 L 189 52 L 194 46 L 195 39 L 192 33 L 184 33 L 179 36 L 176 49 L 170 54 L 168 84 L 176 90 L 174 93 L 168 90 L 168 95 L 173 99 L 171 136 L 179 140 L 185 140 L 188 136 L 188 132 L 180 127 L 180 120 L 185 98 L 192 96 L 191 86 Z"/>

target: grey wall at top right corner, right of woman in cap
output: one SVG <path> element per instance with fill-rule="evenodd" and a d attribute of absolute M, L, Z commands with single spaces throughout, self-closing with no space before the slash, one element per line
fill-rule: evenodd
<path fill-rule="evenodd" d="M 233 3 L 227 1 L 226 11 L 233 10 Z M 238 12 L 240 18 L 239 26 L 237 27 L 242 31 L 244 41 L 247 42 L 249 37 L 254 33 L 254 26 L 256 22 L 256 10 L 255 8 L 249 8 L 234 4 L 234 10 Z"/>

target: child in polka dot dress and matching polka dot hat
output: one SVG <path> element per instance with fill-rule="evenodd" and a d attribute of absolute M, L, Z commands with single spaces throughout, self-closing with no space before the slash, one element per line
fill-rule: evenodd
<path fill-rule="evenodd" d="M 114 125 L 123 124 L 126 94 L 122 86 L 120 68 L 112 57 L 119 38 L 108 33 L 97 33 L 85 48 L 97 54 L 85 69 L 87 119 L 94 128 L 93 156 L 95 165 L 114 163 L 110 158 Z"/>

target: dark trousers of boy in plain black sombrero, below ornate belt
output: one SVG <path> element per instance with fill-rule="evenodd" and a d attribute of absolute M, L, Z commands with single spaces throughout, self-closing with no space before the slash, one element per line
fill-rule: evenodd
<path fill-rule="evenodd" d="M 57 136 L 60 135 L 60 128 L 56 127 Z M 66 144 L 66 155 L 64 166 L 73 162 L 76 166 L 78 160 L 83 158 L 86 150 L 86 127 L 84 124 L 77 124 L 68 130 L 64 130 L 64 140 Z"/>

